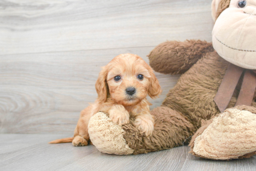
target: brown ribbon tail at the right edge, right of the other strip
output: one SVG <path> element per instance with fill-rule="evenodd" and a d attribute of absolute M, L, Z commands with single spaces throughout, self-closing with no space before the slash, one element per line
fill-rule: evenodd
<path fill-rule="evenodd" d="M 242 86 L 235 103 L 235 106 L 246 105 L 251 106 L 253 101 L 253 96 L 256 89 L 256 75 L 251 70 L 246 70 L 244 73 L 244 78 Z"/>

